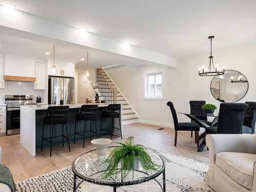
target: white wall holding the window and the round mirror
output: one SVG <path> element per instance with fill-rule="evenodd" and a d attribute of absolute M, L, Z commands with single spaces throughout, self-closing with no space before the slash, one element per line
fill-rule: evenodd
<path fill-rule="evenodd" d="M 256 44 L 213 52 L 216 64 L 218 63 L 219 66 L 225 65 L 226 69 L 240 71 L 248 79 L 249 90 L 239 102 L 256 101 L 256 86 L 254 84 L 256 82 L 255 53 Z M 212 78 L 198 75 L 198 67 L 207 66 L 207 63 L 209 63 L 208 56 L 209 53 L 204 53 L 180 58 L 178 59 L 177 69 L 141 66 L 123 67 L 107 72 L 132 104 L 141 120 L 171 125 L 173 119 L 166 105 L 167 101 L 174 102 L 177 112 L 189 112 L 190 100 L 206 100 L 206 103 L 214 103 L 219 107 L 220 102 L 210 93 L 209 87 Z M 164 100 L 144 100 L 143 73 L 158 71 L 164 71 L 165 98 Z M 189 120 L 181 114 L 178 114 L 178 118 L 180 121 Z"/>

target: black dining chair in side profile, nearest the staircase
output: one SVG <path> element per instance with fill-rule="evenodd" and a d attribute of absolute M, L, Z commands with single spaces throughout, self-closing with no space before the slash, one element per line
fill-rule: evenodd
<path fill-rule="evenodd" d="M 167 105 L 169 106 L 170 111 L 172 112 L 173 120 L 174 120 L 174 130 L 175 130 L 174 146 L 176 146 L 176 144 L 177 144 L 178 131 L 195 131 L 197 147 L 199 147 L 198 137 L 199 137 L 200 126 L 197 123 L 193 123 L 193 122 L 182 122 L 182 123 L 179 123 L 178 122 L 177 113 L 176 113 L 176 110 L 174 108 L 173 102 L 169 101 L 169 102 L 167 102 Z"/>

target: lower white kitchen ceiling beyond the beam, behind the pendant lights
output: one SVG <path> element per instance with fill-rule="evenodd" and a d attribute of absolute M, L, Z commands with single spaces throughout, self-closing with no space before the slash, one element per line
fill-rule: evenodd
<path fill-rule="evenodd" d="M 0 33 L 0 52 L 4 55 L 16 55 L 33 58 L 36 61 L 53 60 L 53 44 L 51 39 L 45 38 L 45 42 L 10 36 Z M 84 71 L 86 67 L 86 55 L 89 52 L 89 68 L 99 68 L 112 65 L 136 65 L 139 62 L 127 61 L 122 57 L 96 49 L 62 42 L 55 45 L 55 61 L 76 63 L 78 71 Z M 46 55 L 49 52 L 50 55 Z M 84 61 L 81 61 L 84 58 Z"/>

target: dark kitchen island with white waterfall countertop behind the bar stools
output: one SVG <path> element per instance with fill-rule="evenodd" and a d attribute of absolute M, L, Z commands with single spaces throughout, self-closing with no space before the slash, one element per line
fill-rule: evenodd
<path fill-rule="evenodd" d="M 67 104 L 70 107 L 68 113 L 68 132 L 69 132 L 69 140 L 70 143 L 74 141 L 74 132 L 75 132 L 75 120 L 76 115 L 79 113 L 79 109 L 83 104 Z M 41 137 L 42 137 L 42 126 L 43 120 L 47 115 L 47 109 L 49 106 L 59 106 L 52 104 L 37 104 L 37 105 L 25 105 L 20 106 L 20 143 L 29 151 L 29 153 L 33 156 L 36 155 L 36 149 L 41 147 Z M 108 104 L 99 103 L 99 109 L 97 111 L 97 130 L 99 134 L 100 130 L 100 119 L 101 113 L 106 109 Z M 122 106 L 121 106 L 122 108 Z M 120 120 L 121 120 L 121 129 L 122 129 L 122 109 L 120 110 Z M 109 118 L 102 119 L 102 127 L 110 127 L 111 121 Z M 48 125 L 49 126 L 49 125 Z M 55 125 L 61 126 L 61 125 Z M 83 130 L 83 123 L 80 126 L 80 129 Z M 119 120 L 115 119 L 115 127 L 119 127 Z M 93 124 L 93 130 L 95 129 L 95 124 Z M 90 121 L 86 122 L 86 130 L 90 130 Z M 62 129 L 54 129 L 54 135 L 61 135 Z M 93 133 L 92 133 L 93 134 Z M 115 135 L 120 136 L 120 132 L 114 132 Z M 101 132 L 101 136 L 108 137 L 110 135 L 109 132 Z M 92 135 L 93 138 L 97 138 L 96 135 Z M 86 139 L 90 139 L 90 132 L 87 133 Z M 82 139 L 81 137 L 76 136 L 76 140 Z M 56 140 L 55 144 L 60 144 L 61 138 Z M 50 146 L 49 143 L 44 143 L 44 147 Z M 72 151 L 72 145 L 71 145 Z"/>

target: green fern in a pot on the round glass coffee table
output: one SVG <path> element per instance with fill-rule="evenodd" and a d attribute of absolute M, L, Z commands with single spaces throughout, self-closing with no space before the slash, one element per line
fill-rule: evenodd
<path fill-rule="evenodd" d="M 115 147 L 106 158 L 105 163 L 108 166 L 102 174 L 102 179 L 116 177 L 118 174 L 122 174 L 122 179 L 125 179 L 130 173 L 133 176 L 139 166 L 144 170 L 157 170 L 159 165 L 152 161 L 143 145 L 133 145 L 132 139 L 129 142 L 117 143 L 121 146 Z"/>

